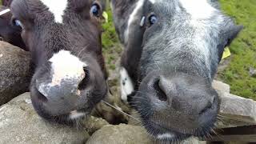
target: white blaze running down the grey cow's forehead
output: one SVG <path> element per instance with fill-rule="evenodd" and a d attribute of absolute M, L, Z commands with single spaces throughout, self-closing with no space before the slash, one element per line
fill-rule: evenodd
<path fill-rule="evenodd" d="M 194 55 L 198 55 L 198 58 L 205 61 L 207 69 L 210 70 L 210 50 L 208 49 L 209 46 L 206 40 L 210 39 L 210 37 L 218 37 L 218 32 L 211 33 L 210 35 L 209 30 L 218 29 L 218 24 L 223 21 L 222 15 L 218 15 L 214 23 L 209 23 L 209 19 L 214 14 L 216 17 L 218 10 L 211 6 L 207 0 L 179 0 L 179 2 L 186 10 L 186 13 L 190 14 L 188 23 L 195 30 L 193 38 L 195 45 L 195 49 L 193 50 Z"/>

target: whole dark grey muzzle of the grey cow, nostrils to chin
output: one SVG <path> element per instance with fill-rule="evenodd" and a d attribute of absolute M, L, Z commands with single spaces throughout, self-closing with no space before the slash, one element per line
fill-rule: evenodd
<path fill-rule="evenodd" d="M 130 103 L 148 129 L 200 135 L 216 122 L 218 94 L 202 76 L 154 71 L 143 78 L 138 91 Z"/>

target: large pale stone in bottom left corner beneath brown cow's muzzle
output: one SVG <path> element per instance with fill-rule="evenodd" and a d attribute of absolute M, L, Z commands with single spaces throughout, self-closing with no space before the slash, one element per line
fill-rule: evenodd
<path fill-rule="evenodd" d="M 85 143 L 89 137 L 86 130 L 40 118 L 29 93 L 0 107 L 0 143 Z"/>

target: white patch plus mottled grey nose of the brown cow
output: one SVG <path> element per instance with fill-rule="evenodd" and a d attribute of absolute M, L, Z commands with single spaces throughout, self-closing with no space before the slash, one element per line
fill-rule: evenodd
<path fill-rule="evenodd" d="M 79 84 L 86 78 L 86 63 L 66 50 L 54 54 L 49 62 L 49 73 L 35 79 L 36 89 L 47 99 L 47 107 L 74 107 L 81 95 Z"/>

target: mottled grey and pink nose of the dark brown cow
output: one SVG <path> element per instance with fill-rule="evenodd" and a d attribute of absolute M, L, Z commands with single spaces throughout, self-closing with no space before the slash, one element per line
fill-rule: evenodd
<path fill-rule="evenodd" d="M 69 67 L 69 66 L 66 66 Z M 72 67 L 72 66 L 71 66 Z M 72 70 L 72 69 L 70 69 Z M 51 114 L 67 114 L 76 109 L 82 90 L 89 81 L 89 70 L 86 67 L 73 72 L 52 75 L 50 80 L 36 80 L 36 89 L 44 100 L 46 110 Z"/>

